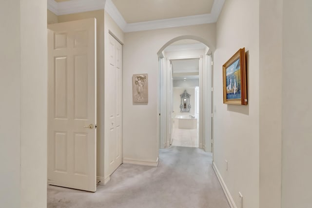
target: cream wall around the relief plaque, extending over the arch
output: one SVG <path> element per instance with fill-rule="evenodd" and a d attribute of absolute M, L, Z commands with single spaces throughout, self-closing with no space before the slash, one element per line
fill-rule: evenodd
<path fill-rule="evenodd" d="M 123 157 L 156 161 L 157 146 L 157 70 L 160 48 L 170 40 L 194 35 L 215 46 L 215 24 L 203 24 L 125 34 L 123 48 Z M 132 75 L 147 73 L 149 103 L 133 105 Z"/>

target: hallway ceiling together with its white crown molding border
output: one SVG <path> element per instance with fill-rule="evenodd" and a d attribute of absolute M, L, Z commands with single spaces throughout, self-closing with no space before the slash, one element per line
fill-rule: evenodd
<path fill-rule="evenodd" d="M 224 1 L 47 0 L 47 4 L 56 15 L 105 9 L 124 32 L 134 32 L 216 22 Z"/>

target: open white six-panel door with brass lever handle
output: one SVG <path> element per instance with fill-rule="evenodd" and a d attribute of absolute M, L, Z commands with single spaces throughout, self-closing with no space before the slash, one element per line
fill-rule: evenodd
<path fill-rule="evenodd" d="M 96 191 L 96 20 L 48 25 L 48 184 Z"/>

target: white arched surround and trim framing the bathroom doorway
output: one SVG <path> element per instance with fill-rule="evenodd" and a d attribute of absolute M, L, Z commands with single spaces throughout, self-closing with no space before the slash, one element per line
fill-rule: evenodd
<path fill-rule="evenodd" d="M 166 48 L 171 47 L 172 44 L 181 42 L 182 40 L 193 40 L 198 42 L 197 44 L 204 45 L 204 48 L 192 48 L 188 50 L 187 47 L 182 48 L 183 52 L 167 53 Z M 197 50 L 196 50 L 197 49 Z M 198 147 L 203 148 L 207 152 L 213 151 L 213 141 L 212 141 L 212 47 L 209 47 L 209 44 L 202 38 L 196 36 L 179 36 L 164 44 L 159 51 L 158 55 L 158 120 L 157 120 L 157 133 L 158 133 L 158 142 L 159 148 L 165 148 L 172 144 L 171 133 L 172 133 L 172 102 L 171 102 L 171 92 L 172 92 L 172 61 L 177 60 L 188 60 L 196 59 L 198 60 L 199 70 L 199 108 L 198 113 Z M 192 52 L 191 52 L 192 51 Z M 169 54 L 169 55 L 168 55 Z M 184 78 L 186 79 L 186 78 Z M 193 95 L 195 97 L 195 95 Z M 205 106 L 205 107 L 204 107 Z M 194 106 L 195 108 L 195 106 Z M 191 116 L 191 115 L 190 115 Z"/>

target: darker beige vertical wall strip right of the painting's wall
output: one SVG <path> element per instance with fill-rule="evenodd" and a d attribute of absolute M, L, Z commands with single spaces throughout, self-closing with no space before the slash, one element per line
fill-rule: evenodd
<path fill-rule="evenodd" d="M 282 0 L 260 0 L 259 59 L 260 208 L 280 208 Z"/>

